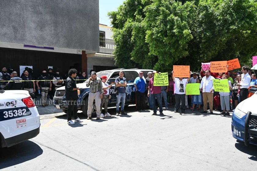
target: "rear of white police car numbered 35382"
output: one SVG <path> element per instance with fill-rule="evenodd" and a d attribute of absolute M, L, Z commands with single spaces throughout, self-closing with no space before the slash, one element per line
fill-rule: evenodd
<path fill-rule="evenodd" d="M 40 120 L 28 91 L 0 90 L 0 147 L 10 147 L 38 135 Z"/>

